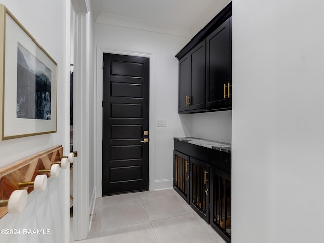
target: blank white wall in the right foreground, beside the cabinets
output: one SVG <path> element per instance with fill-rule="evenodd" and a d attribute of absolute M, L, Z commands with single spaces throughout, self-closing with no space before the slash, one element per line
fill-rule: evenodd
<path fill-rule="evenodd" d="M 323 9 L 233 0 L 233 243 L 324 239 Z"/>

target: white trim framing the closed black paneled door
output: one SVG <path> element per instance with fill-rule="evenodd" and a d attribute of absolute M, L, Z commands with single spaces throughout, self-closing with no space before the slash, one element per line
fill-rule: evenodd
<path fill-rule="evenodd" d="M 97 198 L 102 197 L 102 60 L 103 53 L 119 54 L 119 55 L 130 55 L 137 57 L 148 57 L 150 63 L 150 74 L 149 74 L 149 185 L 148 190 L 154 190 L 154 119 L 155 119 L 155 79 L 154 79 L 154 53 L 143 53 L 136 51 L 128 50 L 118 50 L 105 47 L 97 47 L 97 62 L 96 62 L 96 101 L 95 101 L 95 112 L 96 112 L 96 139 L 95 139 L 95 148 L 96 148 L 96 158 L 97 168 L 96 168 L 96 189 L 97 189 Z"/>

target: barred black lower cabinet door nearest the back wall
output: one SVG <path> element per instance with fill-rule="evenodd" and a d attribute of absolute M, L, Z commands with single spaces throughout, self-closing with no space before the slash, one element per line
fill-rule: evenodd
<path fill-rule="evenodd" d="M 173 188 L 189 204 L 189 183 L 190 183 L 190 158 L 189 156 L 174 150 L 173 155 Z"/>

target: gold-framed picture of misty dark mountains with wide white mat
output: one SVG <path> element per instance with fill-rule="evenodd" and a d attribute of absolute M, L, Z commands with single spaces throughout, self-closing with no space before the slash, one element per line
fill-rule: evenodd
<path fill-rule="evenodd" d="M 1 139 L 56 132 L 57 64 L 0 5 Z"/>

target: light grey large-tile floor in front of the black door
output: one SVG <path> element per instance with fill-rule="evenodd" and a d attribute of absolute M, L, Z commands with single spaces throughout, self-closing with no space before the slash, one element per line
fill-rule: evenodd
<path fill-rule="evenodd" d="M 77 242 L 225 243 L 173 189 L 97 198 L 94 211 L 88 238 Z"/>

